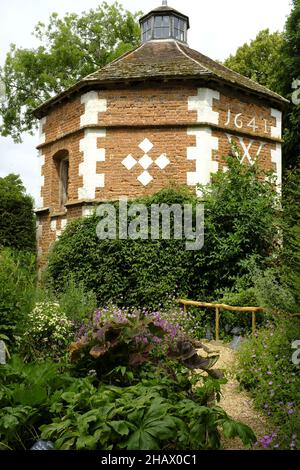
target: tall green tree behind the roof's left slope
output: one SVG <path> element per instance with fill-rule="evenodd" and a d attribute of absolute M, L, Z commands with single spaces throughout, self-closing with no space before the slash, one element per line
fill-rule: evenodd
<path fill-rule="evenodd" d="M 53 13 L 48 24 L 35 27 L 33 34 L 40 42 L 36 49 L 12 44 L 0 68 L 5 89 L 0 100 L 1 135 L 20 142 L 23 132 L 36 127 L 36 106 L 137 46 L 140 14 L 124 10 L 118 2 L 103 2 L 80 16 L 68 13 L 61 19 Z"/>

